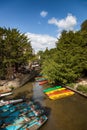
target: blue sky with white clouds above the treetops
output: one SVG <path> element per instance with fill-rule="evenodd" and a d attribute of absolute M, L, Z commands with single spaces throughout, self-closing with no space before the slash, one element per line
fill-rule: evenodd
<path fill-rule="evenodd" d="M 0 0 L 0 27 L 17 28 L 35 52 L 55 47 L 63 30 L 80 30 L 87 0 Z"/>

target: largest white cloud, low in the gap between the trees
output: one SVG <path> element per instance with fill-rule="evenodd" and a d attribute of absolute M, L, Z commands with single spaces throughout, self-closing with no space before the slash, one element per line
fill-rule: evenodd
<path fill-rule="evenodd" d="M 26 33 L 26 35 L 30 39 L 31 45 L 36 53 L 39 50 L 44 51 L 46 47 L 48 47 L 48 49 L 55 48 L 55 42 L 57 39 L 54 37 L 34 33 Z"/>

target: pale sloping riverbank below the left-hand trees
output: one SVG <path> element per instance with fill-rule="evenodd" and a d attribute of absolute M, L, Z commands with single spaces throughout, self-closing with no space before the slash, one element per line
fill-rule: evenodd
<path fill-rule="evenodd" d="M 26 84 L 29 80 L 37 75 L 37 71 L 31 71 L 29 74 L 20 74 L 19 77 L 13 80 L 0 80 L 0 93 L 9 92 L 13 89 L 17 89 L 24 84 Z"/>

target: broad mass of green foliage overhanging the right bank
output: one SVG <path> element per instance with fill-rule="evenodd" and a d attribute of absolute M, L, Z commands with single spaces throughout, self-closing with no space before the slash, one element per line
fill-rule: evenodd
<path fill-rule="evenodd" d="M 42 73 L 51 82 L 75 82 L 87 75 L 87 31 L 63 31 L 56 48 L 42 55 Z"/>

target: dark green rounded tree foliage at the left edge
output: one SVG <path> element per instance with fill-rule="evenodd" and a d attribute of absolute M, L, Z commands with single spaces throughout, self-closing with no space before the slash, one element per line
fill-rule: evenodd
<path fill-rule="evenodd" d="M 26 64 L 32 57 L 32 47 L 25 34 L 17 29 L 0 28 L 0 77 Z M 8 75 L 9 75 L 8 74 Z"/>

